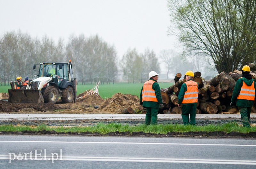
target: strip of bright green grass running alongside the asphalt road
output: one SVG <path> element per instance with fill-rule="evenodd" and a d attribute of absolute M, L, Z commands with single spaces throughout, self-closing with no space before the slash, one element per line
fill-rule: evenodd
<path fill-rule="evenodd" d="M 220 125 L 205 125 L 205 126 L 193 126 L 193 125 L 187 125 L 184 126 L 183 124 L 157 124 L 157 125 L 136 125 L 136 126 L 130 126 L 128 124 L 121 124 L 121 123 L 98 123 L 95 126 L 88 126 L 88 127 L 51 127 L 46 126 L 45 124 L 40 124 L 35 127 L 30 126 L 14 126 L 12 124 L 8 125 L 0 125 L 0 131 L 6 131 L 6 132 L 21 132 L 21 131 L 56 131 L 56 132 L 98 132 L 100 134 L 106 134 L 109 132 L 144 132 L 144 133 L 160 133 L 160 134 L 167 134 L 168 132 L 195 132 L 195 131 L 206 131 L 206 132 L 213 132 L 213 131 L 223 131 L 226 133 L 230 133 L 232 131 L 239 132 L 239 133 L 249 133 L 249 132 L 255 132 L 256 127 L 242 127 L 239 126 L 236 122 L 231 123 L 225 123 Z"/>

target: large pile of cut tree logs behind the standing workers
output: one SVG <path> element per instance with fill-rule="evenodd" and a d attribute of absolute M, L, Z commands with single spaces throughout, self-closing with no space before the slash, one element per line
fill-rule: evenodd
<path fill-rule="evenodd" d="M 256 74 L 253 70 L 256 70 L 256 66 L 253 63 L 249 63 L 251 68 L 251 76 L 256 78 Z M 194 81 L 199 84 L 198 89 L 198 102 L 196 113 L 201 114 L 216 114 L 216 113 L 237 113 L 239 110 L 236 106 L 230 106 L 231 97 L 233 94 L 236 81 L 242 76 L 242 72 L 235 70 L 234 72 L 225 73 L 221 72 L 210 81 L 205 81 L 201 77 L 200 72 L 194 73 Z M 171 113 L 181 114 L 181 108 L 178 107 L 178 95 L 181 85 L 186 81 L 180 80 L 181 74 L 176 74 L 175 83 L 169 88 L 162 88 L 161 95 L 164 102 L 164 109 L 159 110 L 159 113 Z M 256 112 L 254 106 L 252 111 Z"/>

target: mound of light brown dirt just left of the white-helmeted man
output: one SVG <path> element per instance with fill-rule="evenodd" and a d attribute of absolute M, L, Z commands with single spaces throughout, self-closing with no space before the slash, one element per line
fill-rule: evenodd
<path fill-rule="evenodd" d="M 139 97 L 136 95 L 116 93 L 101 103 L 99 110 L 118 114 L 122 113 L 122 110 L 128 107 L 131 107 L 133 110 L 138 109 L 140 107 Z"/>

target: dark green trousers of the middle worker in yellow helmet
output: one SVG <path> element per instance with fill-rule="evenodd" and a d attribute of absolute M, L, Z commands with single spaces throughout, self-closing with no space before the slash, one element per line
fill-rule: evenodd
<path fill-rule="evenodd" d="M 190 123 L 189 116 L 190 115 Z M 183 104 L 182 105 L 182 120 L 184 125 L 192 124 L 196 125 L 196 103 L 195 104 Z"/>

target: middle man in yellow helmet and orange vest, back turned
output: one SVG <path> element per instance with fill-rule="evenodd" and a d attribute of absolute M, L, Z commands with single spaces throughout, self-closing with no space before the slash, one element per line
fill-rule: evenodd
<path fill-rule="evenodd" d="M 193 80 L 194 73 L 189 70 L 185 74 L 186 82 L 181 85 L 178 106 L 182 103 L 182 120 L 184 125 L 196 125 L 196 104 L 198 99 L 198 83 Z M 189 116 L 190 115 L 190 123 Z"/>

